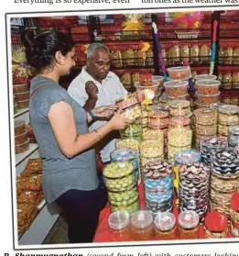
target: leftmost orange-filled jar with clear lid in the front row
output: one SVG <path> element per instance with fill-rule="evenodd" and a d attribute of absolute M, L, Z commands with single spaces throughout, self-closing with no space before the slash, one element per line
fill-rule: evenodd
<path fill-rule="evenodd" d="M 108 218 L 111 241 L 131 240 L 130 217 L 125 211 L 116 211 Z"/>

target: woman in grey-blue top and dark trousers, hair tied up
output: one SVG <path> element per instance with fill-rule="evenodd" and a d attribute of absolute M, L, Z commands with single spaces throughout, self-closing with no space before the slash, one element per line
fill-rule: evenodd
<path fill-rule="evenodd" d="M 91 242 L 107 195 L 99 183 L 92 146 L 112 130 L 125 128 L 128 121 L 114 106 L 86 113 L 65 89 L 62 75 L 75 65 L 71 37 L 46 30 L 26 37 L 27 61 L 38 75 L 31 80 L 30 121 L 43 158 L 42 187 L 48 203 L 57 202 L 69 226 L 69 242 Z M 113 116 L 114 115 L 114 116 Z M 112 117 L 113 116 L 113 117 Z M 92 132 L 95 118 L 112 117 Z"/>

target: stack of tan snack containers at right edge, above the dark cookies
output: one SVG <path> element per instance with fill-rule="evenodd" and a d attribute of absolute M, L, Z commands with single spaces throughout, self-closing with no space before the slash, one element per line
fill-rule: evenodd
<path fill-rule="evenodd" d="M 239 125 L 239 106 L 223 105 L 218 108 L 218 135 L 228 137 L 229 127 Z"/>

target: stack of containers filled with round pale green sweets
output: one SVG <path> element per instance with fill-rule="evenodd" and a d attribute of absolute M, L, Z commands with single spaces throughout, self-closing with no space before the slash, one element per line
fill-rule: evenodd
<path fill-rule="evenodd" d="M 136 175 L 132 161 L 112 162 L 103 168 L 111 211 L 125 210 L 129 214 L 139 209 Z"/>

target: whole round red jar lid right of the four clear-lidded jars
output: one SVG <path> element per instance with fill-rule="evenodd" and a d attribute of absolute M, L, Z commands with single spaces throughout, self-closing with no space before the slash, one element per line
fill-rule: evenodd
<path fill-rule="evenodd" d="M 209 212 L 205 217 L 205 227 L 212 232 L 222 232 L 228 227 L 227 217 L 220 212 Z"/>

